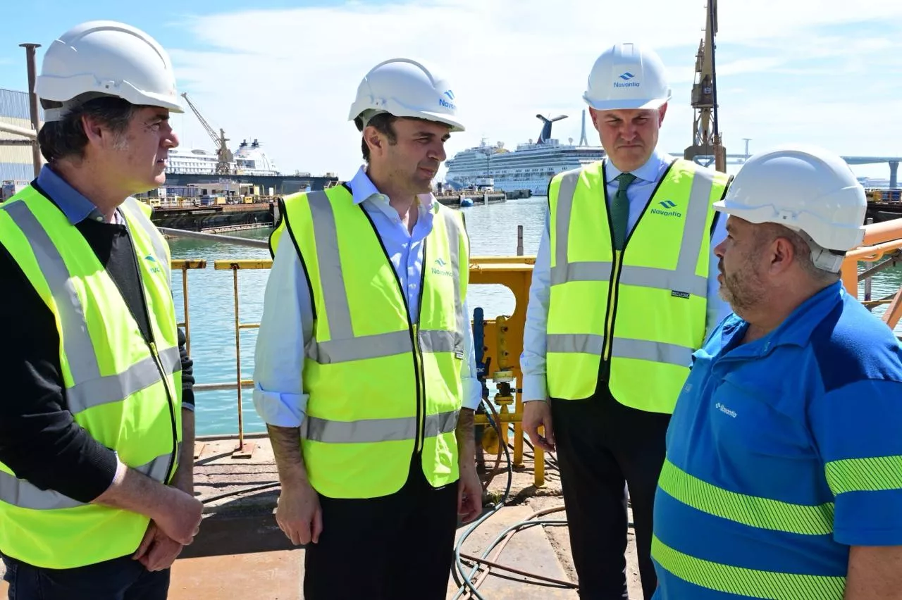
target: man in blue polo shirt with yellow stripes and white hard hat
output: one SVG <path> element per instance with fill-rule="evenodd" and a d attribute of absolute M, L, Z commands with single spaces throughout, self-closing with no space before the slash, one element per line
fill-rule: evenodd
<path fill-rule="evenodd" d="M 897 598 L 902 349 L 840 279 L 864 189 L 840 157 L 793 145 L 751 157 L 715 208 L 733 314 L 695 352 L 667 432 L 655 598 Z"/>

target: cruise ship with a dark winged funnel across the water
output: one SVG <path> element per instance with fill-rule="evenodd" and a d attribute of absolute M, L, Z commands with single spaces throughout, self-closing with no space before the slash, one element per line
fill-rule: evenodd
<path fill-rule="evenodd" d="M 457 152 L 445 164 L 445 184 L 452 189 L 493 188 L 504 192 L 528 189 L 533 195 L 546 195 L 551 177 L 571 168 L 579 168 L 604 157 L 601 146 L 589 146 L 583 132 L 579 144 L 573 139 L 561 144 L 551 137 L 551 125 L 565 114 L 553 118 L 536 115 L 542 122 L 538 141 L 518 144 L 517 150 L 504 148 L 503 142 L 492 146 L 483 142 L 475 148 Z"/>

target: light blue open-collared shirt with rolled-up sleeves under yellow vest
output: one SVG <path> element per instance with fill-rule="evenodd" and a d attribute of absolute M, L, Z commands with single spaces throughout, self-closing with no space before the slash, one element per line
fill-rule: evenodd
<path fill-rule="evenodd" d="M 391 258 L 401 286 L 407 295 L 410 319 L 419 316 L 419 282 L 423 267 L 423 241 L 432 231 L 438 209 L 431 194 L 419 195 L 419 214 L 413 232 L 401 223 L 398 212 L 389 205 L 361 167 L 348 182 L 354 204 L 363 205 L 373 219 L 376 232 Z M 276 252 L 263 298 L 263 314 L 253 368 L 253 406 L 260 418 L 278 427 L 299 427 L 307 410 L 302 368 L 304 348 L 313 335 L 310 291 L 298 253 L 291 244 Z M 466 265 L 465 261 L 461 261 Z M 469 311 L 464 302 L 464 312 Z M 463 405 L 476 409 L 482 402 L 482 384 L 476 375 L 473 331 L 464 332 L 465 360 L 461 368 Z M 327 401 L 327 400 L 325 400 Z"/>

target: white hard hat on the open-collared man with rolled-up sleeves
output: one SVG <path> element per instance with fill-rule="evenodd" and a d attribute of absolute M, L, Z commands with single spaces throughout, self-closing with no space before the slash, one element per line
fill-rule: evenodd
<path fill-rule="evenodd" d="M 417 60 L 385 60 L 364 76 L 348 121 L 360 116 L 365 125 L 379 113 L 427 119 L 450 125 L 452 132 L 464 131 L 464 125 L 457 121 L 457 100 L 451 85 Z"/>

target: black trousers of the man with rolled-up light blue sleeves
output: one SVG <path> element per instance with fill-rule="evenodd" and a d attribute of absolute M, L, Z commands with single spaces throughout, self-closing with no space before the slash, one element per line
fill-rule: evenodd
<path fill-rule="evenodd" d="M 457 529 L 457 484 L 419 467 L 379 498 L 319 496 L 323 532 L 305 550 L 305 600 L 445 600 Z"/>

